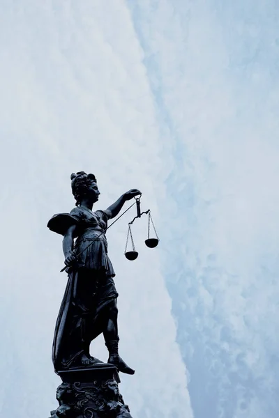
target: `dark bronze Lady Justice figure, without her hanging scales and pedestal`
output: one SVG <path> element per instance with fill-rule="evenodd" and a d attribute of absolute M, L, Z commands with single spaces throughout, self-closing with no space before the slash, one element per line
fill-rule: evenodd
<path fill-rule="evenodd" d="M 76 208 L 54 215 L 47 226 L 63 235 L 68 284 L 56 320 L 52 361 L 55 371 L 92 366 L 99 362 L 89 353 L 93 339 L 103 333 L 108 363 L 123 373 L 134 374 L 119 356 L 117 297 L 114 269 L 107 256 L 107 221 L 119 214 L 124 203 L 141 194 L 131 189 L 106 210 L 92 211 L 100 192 L 96 177 L 73 173 Z M 79 256 L 77 257 L 77 254 Z"/>

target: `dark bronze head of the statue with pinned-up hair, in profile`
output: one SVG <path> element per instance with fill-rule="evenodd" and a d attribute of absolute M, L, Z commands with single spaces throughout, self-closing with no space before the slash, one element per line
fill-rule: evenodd
<path fill-rule="evenodd" d="M 80 206 L 84 198 L 89 198 L 93 203 L 98 201 L 100 192 L 94 174 L 86 174 L 84 171 L 78 171 L 77 173 L 71 174 L 70 180 L 72 180 L 72 192 L 75 197 L 76 206 Z"/>

